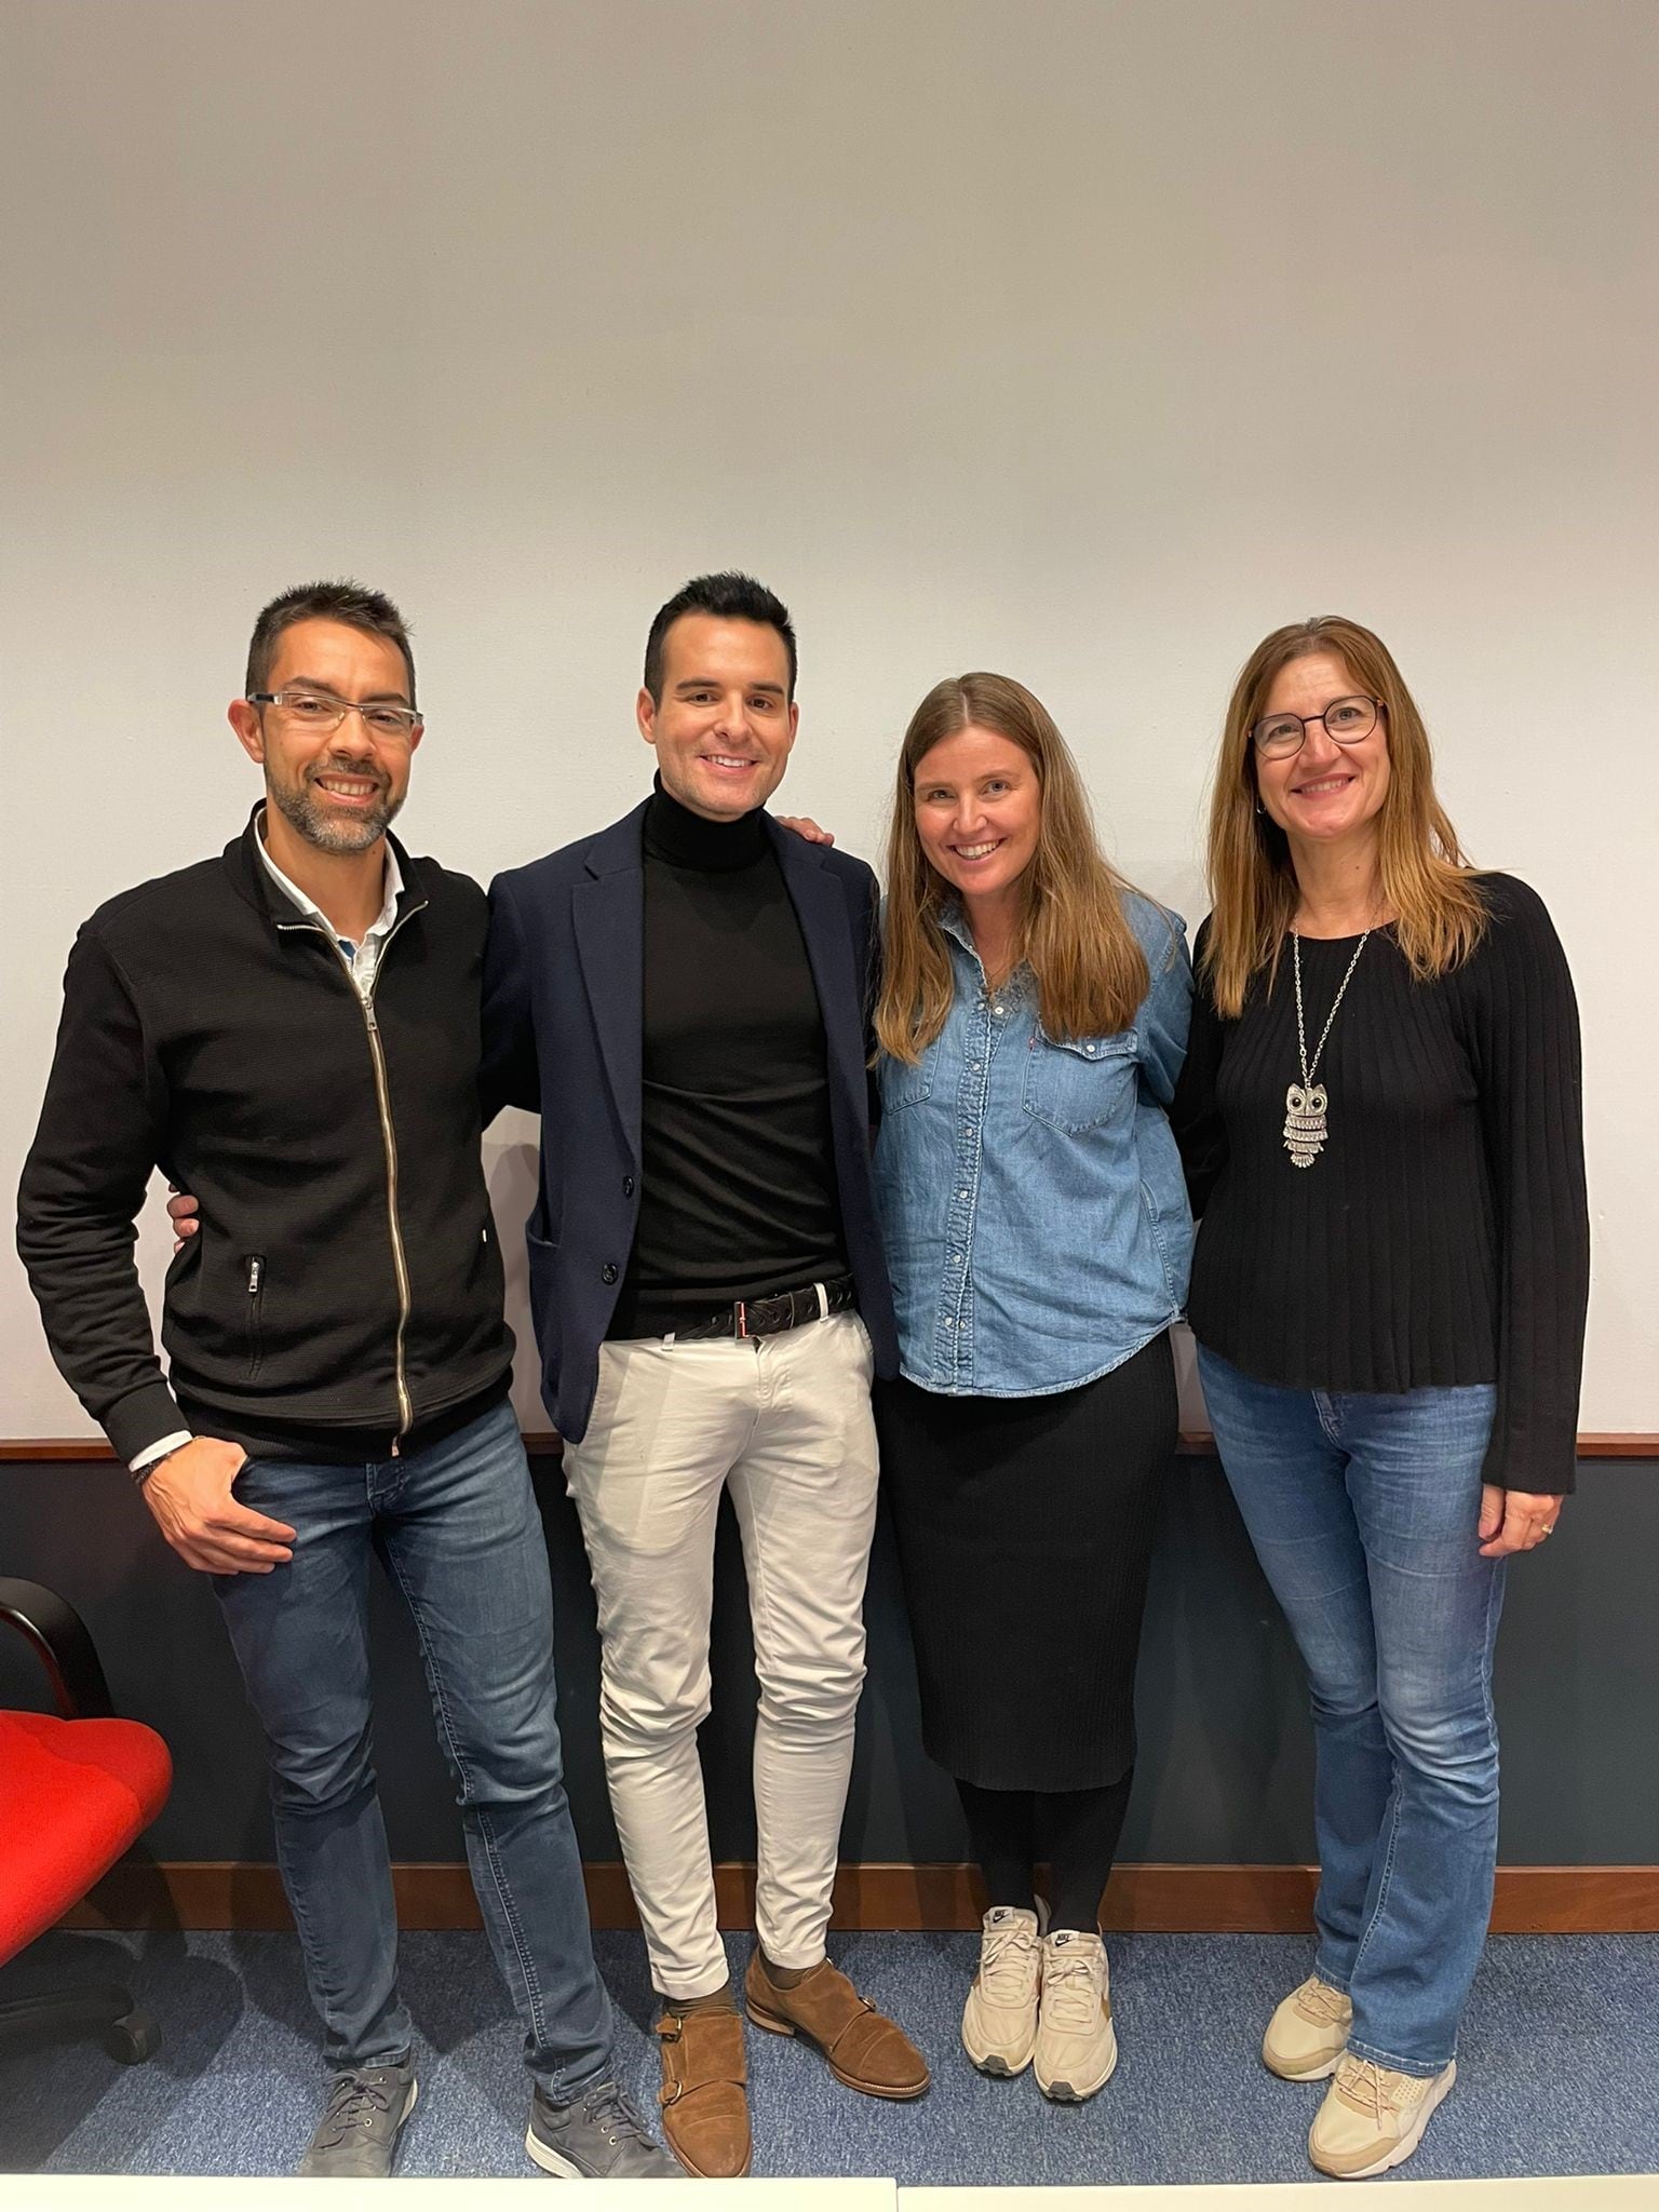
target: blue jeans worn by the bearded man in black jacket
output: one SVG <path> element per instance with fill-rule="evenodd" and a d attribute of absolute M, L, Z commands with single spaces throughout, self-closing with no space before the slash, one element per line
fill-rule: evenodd
<path fill-rule="evenodd" d="M 265 1730 L 276 1860 L 330 2066 L 409 2055 L 392 1863 L 374 1790 L 367 1573 L 385 1562 L 420 1637 L 467 1860 L 524 2059 L 555 2101 L 611 2070 L 611 2002 L 553 1708 L 553 1588 L 509 1405 L 369 1467 L 259 1460 L 237 1498 L 294 1531 L 270 1575 L 217 1575 Z"/>

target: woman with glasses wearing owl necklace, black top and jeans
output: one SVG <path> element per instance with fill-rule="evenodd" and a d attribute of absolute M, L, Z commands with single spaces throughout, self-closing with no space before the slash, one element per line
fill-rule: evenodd
<path fill-rule="evenodd" d="M 1210 810 L 1170 1121 L 1221 1464 L 1307 1668 L 1321 1885 L 1265 2066 L 1327 2174 L 1411 2157 L 1491 1911 L 1511 1553 L 1573 1489 L 1579 1037 L 1544 902 L 1475 872 L 1387 646 L 1263 639 Z"/>

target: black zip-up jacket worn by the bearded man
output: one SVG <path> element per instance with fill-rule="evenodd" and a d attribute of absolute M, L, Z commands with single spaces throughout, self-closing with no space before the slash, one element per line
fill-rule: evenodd
<path fill-rule="evenodd" d="M 478 1155 L 484 894 L 398 847 L 365 1006 L 257 836 L 254 816 L 82 927 L 22 1170 L 53 1358 L 124 1460 L 192 1425 L 383 1458 L 498 1391 L 513 1356 Z M 133 1265 L 157 1166 L 201 1201 L 166 1281 L 173 1387 Z"/>

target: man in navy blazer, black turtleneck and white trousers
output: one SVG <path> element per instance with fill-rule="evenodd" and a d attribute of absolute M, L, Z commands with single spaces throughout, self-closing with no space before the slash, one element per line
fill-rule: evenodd
<path fill-rule="evenodd" d="M 750 2020 L 849 2088 L 927 2066 L 825 1958 L 898 1369 L 869 1172 L 876 878 L 765 812 L 794 743 L 787 611 L 745 575 L 657 615 L 653 796 L 491 889 L 484 1110 L 542 1115 L 531 1307 L 602 1635 L 602 1734 L 653 1978 L 664 2132 L 750 2163 L 697 1728 L 714 1517 L 743 1531 L 761 1705 Z"/>

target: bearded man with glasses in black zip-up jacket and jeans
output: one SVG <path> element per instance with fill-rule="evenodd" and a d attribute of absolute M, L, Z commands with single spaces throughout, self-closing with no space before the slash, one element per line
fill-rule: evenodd
<path fill-rule="evenodd" d="M 526 2150 L 557 2174 L 672 2177 L 613 2079 L 562 1783 L 478 1150 L 484 896 L 387 834 L 422 734 L 398 611 L 354 584 L 274 599 L 230 723 L 265 781 L 248 830 L 75 940 L 18 1248 L 62 1374 L 212 1575 L 265 1728 L 332 2068 L 301 2172 L 389 2174 L 416 2101 L 369 1750 L 376 1551 L 524 2028 Z M 204 1223 L 168 1272 L 170 1378 L 133 1267 L 157 1166 Z"/>

